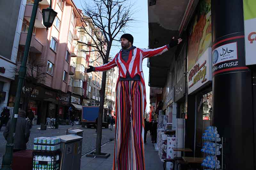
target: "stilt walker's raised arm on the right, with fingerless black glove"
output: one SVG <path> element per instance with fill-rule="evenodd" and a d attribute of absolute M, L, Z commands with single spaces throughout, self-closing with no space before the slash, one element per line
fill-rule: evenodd
<path fill-rule="evenodd" d="M 180 44 L 181 41 L 182 41 L 182 39 L 174 40 L 174 37 L 172 37 L 171 42 L 163 47 L 159 47 L 159 48 L 155 48 L 155 49 L 141 49 L 143 51 L 142 52 L 143 59 L 147 58 L 147 57 L 161 55 L 164 52 L 168 51 L 170 48 Z"/>

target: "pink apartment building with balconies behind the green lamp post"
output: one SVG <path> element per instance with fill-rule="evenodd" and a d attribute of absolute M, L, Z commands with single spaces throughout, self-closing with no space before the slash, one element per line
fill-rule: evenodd
<path fill-rule="evenodd" d="M 16 59 L 18 65 L 24 53 L 33 4 L 34 0 L 23 0 L 21 4 L 24 9 L 20 12 L 23 14 L 19 15 L 20 22 L 17 26 L 20 29 Z M 40 61 L 42 67 L 34 67 L 33 71 L 35 74 L 44 72 L 44 78 L 40 81 L 25 81 L 20 100 L 20 108 L 31 108 L 36 115 L 37 123 L 45 123 L 46 117 L 56 115 L 61 119 L 67 119 L 68 107 L 72 103 L 80 105 L 81 101 L 79 95 L 72 94 L 69 89 L 69 74 L 75 74 L 73 63 L 70 63 L 73 37 L 76 34 L 76 21 L 82 16 L 81 10 L 76 8 L 72 0 L 53 0 L 52 8 L 58 14 L 52 27 L 46 31 L 42 9 L 49 7 L 49 4 L 50 0 L 39 3 L 28 56 L 28 66 L 33 60 Z M 9 106 L 13 106 L 16 89 L 17 77 L 11 84 Z"/>

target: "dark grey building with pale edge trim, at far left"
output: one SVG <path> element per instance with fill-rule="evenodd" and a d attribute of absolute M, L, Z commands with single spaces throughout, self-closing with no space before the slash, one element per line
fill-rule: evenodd
<path fill-rule="evenodd" d="M 12 8 L 10 8 L 10 4 Z M 7 107 L 11 81 L 14 80 L 14 68 L 19 48 L 21 26 L 26 8 L 26 0 L 2 1 L 0 28 L 0 112 Z M 12 113 L 12 107 L 9 107 Z"/>

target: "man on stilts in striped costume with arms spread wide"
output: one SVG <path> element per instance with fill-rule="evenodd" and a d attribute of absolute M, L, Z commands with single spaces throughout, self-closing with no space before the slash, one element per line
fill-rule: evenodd
<path fill-rule="evenodd" d="M 156 49 L 136 48 L 132 35 L 127 33 L 121 36 L 120 41 L 122 49 L 111 61 L 99 67 L 89 66 L 86 72 L 107 71 L 118 66 L 113 170 L 145 170 L 143 115 L 146 91 L 142 60 L 161 55 L 182 40 L 173 37 L 168 45 Z"/>

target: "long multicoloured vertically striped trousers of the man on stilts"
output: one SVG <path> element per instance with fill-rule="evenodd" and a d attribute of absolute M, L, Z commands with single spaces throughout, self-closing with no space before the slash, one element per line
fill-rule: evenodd
<path fill-rule="evenodd" d="M 143 84 L 118 81 L 113 170 L 145 170 L 143 115 Z"/>

